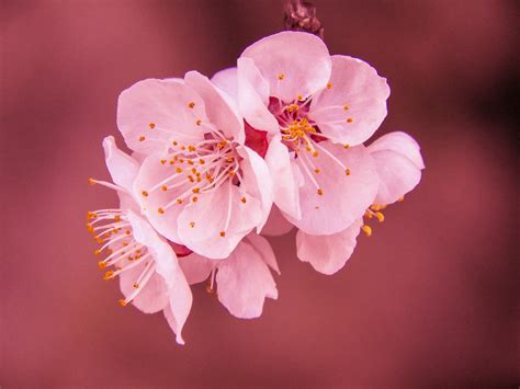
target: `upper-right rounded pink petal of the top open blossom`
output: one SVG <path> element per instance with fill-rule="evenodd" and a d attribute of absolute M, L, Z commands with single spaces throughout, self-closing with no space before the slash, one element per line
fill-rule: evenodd
<path fill-rule="evenodd" d="M 330 89 L 324 89 L 313 100 L 309 118 L 335 142 L 362 144 L 386 116 L 386 79 L 360 59 L 332 56 L 329 82 Z"/>

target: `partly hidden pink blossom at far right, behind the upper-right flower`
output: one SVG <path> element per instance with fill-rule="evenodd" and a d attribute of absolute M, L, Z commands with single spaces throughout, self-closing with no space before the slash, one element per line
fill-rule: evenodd
<path fill-rule="evenodd" d="M 383 221 L 382 210 L 417 186 L 425 164 L 419 145 L 405 133 L 387 134 L 368 150 L 375 161 L 380 184 L 374 204 L 366 209 L 364 217 Z M 363 224 L 363 218 L 332 234 L 313 236 L 301 230 L 296 234 L 297 255 L 320 273 L 336 273 L 350 259 L 360 230 L 372 234 L 372 228 Z"/>

